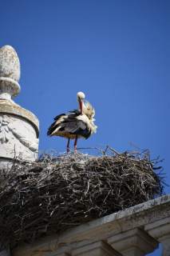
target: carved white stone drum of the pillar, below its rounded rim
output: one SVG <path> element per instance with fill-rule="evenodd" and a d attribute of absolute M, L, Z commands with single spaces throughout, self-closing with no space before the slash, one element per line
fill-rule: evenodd
<path fill-rule="evenodd" d="M 38 138 L 30 122 L 18 116 L 0 114 L 0 152 L 1 158 L 36 159 Z"/>

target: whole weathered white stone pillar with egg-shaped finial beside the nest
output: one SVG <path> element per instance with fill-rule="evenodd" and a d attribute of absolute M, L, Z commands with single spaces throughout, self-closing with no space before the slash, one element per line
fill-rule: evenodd
<path fill-rule="evenodd" d="M 19 94 L 20 62 L 11 46 L 0 48 L 0 169 L 14 158 L 38 158 L 38 118 L 13 101 Z"/>

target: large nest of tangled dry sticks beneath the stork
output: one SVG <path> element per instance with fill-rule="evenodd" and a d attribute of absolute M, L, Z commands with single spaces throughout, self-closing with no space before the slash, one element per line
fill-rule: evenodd
<path fill-rule="evenodd" d="M 33 242 L 160 196 L 156 163 L 132 153 L 15 162 L 0 180 L 0 241 Z"/>

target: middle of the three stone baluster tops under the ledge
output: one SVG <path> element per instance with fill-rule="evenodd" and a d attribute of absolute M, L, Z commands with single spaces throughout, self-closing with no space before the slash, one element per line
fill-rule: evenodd
<path fill-rule="evenodd" d="M 124 256 L 144 256 L 158 246 L 155 239 L 138 228 L 116 234 L 108 238 L 108 242 Z"/>

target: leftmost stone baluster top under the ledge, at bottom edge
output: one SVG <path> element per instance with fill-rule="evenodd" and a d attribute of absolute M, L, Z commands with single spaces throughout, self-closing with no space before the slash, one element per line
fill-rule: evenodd
<path fill-rule="evenodd" d="M 72 256 L 121 256 L 105 242 L 93 242 L 72 251 Z"/>

